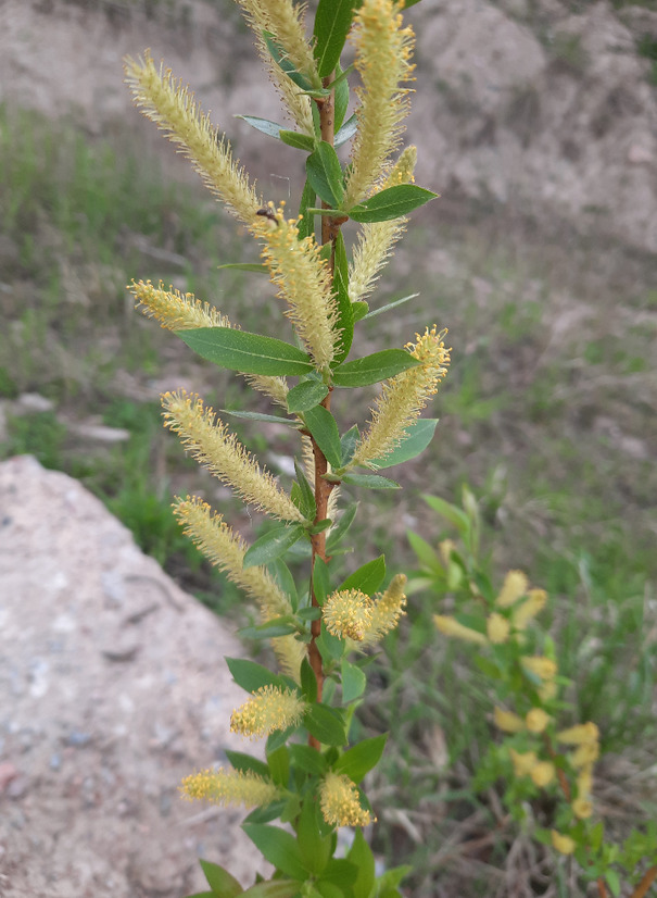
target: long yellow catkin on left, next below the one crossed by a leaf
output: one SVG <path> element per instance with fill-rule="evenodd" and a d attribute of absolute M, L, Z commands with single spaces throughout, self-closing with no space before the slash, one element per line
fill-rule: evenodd
<path fill-rule="evenodd" d="M 279 521 L 305 520 L 271 474 L 261 470 L 237 436 L 215 417 L 211 408 L 204 407 L 199 396 L 185 390 L 167 392 L 162 397 L 162 407 L 165 426 L 178 434 L 185 448 L 245 502 Z"/>

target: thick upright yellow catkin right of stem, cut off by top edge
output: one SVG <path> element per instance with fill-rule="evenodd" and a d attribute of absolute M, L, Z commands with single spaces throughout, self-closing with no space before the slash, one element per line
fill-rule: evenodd
<path fill-rule="evenodd" d="M 354 137 L 344 208 L 365 199 L 400 144 L 403 121 L 408 114 L 408 88 L 413 80 L 415 36 L 403 27 L 402 3 L 364 0 L 354 18 L 351 38 L 355 66 L 361 75 L 356 88 L 358 129 Z"/>

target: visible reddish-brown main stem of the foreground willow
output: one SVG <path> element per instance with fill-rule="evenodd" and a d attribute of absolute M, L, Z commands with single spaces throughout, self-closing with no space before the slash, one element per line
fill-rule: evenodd
<path fill-rule="evenodd" d="M 329 75 L 329 77 L 324 79 L 324 86 L 329 87 L 330 83 L 332 82 L 333 76 Z M 317 101 L 317 107 L 319 109 L 319 124 L 321 129 L 321 139 L 326 140 L 327 144 L 330 144 L 331 147 L 333 146 L 333 134 L 334 134 L 334 93 L 331 90 L 328 97 L 323 100 Z M 326 203 L 323 203 L 325 208 L 327 208 Z M 333 219 L 329 219 L 328 216 L 321 216 L 321 244 L 331 244 L 331 259 L 330 259 L 330 267 L 331 274 L 333 272 L 333 263 L 336 257 L 336 240 L 338 239 L 338 234 L 340 232 L 340 224 L 338 224 Z M 324 408 L 327 411 L 330 411 L 331 407 L 331 389 L 329 388 L 329 392 L 321 402 Z M 333 484 L 327 483 L 324 479 L 324 475 L 328 471 L 328 462 L 326 460 L 326 456 L 317 446 L 315 440 L 311 437 L 313 444 L 313 457 L 315 459 L 315 504 L 317 507 L 317 513 L 315 515 L 315 523 L 317 524 L 319 521 L 325 521 L 328 517 L 328 500 L 329 496 L 331 495 L 331 490 L 333 488 Z M 315 573 L 315 560 L 320 558 L 321 561 L 326 562 L 326 531 L 321 533 L 313 534 L 311 537 L 311 547 L 312 547 L 312 562 L 311 562 L 311 596 L 313 600 L 313 607 L 319 608 L 319 602 L 317 600 L 317 596 L 315 594 L 315 586 L 314 586 L 314 578 L 313 574 Z M 321 693 L 324 688 L 324 665 L 321 663 L 321 653 L 319 648 L 317 647 L 317 639 L 321 634 L 321 619 L 313 621 L 311 624 L 311 645 L 308 647 L 308 660 L 311 662 L 311 666 L 315 673 L 315 678 L 317 681 L 317 701 L 321 701 Z M 308 745 L 313 748 L 319 750 L 320 743 L 314 736 L 308 737 Z"/>

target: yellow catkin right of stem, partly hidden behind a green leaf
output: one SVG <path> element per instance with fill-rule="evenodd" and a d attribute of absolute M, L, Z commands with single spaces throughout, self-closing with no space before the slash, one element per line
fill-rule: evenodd
<path fill-rule="evenodd" d="M 416 160 L 417 149 L 406 147 L 381 187 L 412 182 Z M 362 226 L 349 270 L 349 297 L 352 302 L 365 299 L 374 290 L 394 245 L 406 229 L 407 221 L 402 216 L 391 222 L 374 222 Z"/>

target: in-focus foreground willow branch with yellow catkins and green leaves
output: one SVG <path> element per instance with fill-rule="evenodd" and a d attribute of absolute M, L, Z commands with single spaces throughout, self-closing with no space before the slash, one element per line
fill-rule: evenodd
<path fill-rule="evenodd" d="M 362 834 L 375 815 L 361 783 L 378 763 L 386 737 L 352 745 L 350 727 L 371 648 L 404 613 L 406 577 L 387 576 L 383 556 L 346 578 L 340 573 L 356 504 L 341 509 L 339 492 L 342 484 L 397 488 L 378 472 L 428 446 L 437 422 L 420 414 L 450 362 L 445 332 L 435 325 L 409 335 L 404 348 L 350 358 L 358 322 L 410 299 L 375 311 L 368 304 L 407 214 L 435 197 L 414 184 L 416 150 L 402 147 L 414 34 L 396 0 L 319 0 L 311 37 L 305 8 L 292 0 L 238 2 L 291 127 L 242 117 L 306 155 L 295 216 L 288 217 L 278 198 L 257 192 L 228 138 L 164 64 L 156 65 L 149 51 L 125 64 L 137 107 L 260 245 L 258 267 L 278 291 L 290 339 L 243 330 L 203 300 L 163 284 L 139 280 L 130 289 L 147 315 L 202 358 L 243 375 L 273 403 L 271 414 L 242 416 L 292 427 L 300 438 L 295 481 L 287 491 L 199 396 L 178 390 L 162 399 L 166 426 L 186 449 L 270 521 L 249 546 L 201 499 L 175 502 L 186 533 L 254 601 L 261 621 L 251 636 L 270 639 L 278 661 L 278 670 L 269 671 L 227 659 L 249 694 L 232 713 L 231 729 L 266 738 L 265 760 L 227 752 L 229 769 L 192 773 L 181 788 L 190 799 L 253 809 L 243 828 L 275 868 L 270 880 L 257 877 L 243 890 L 230 873 L 203 862 L 212 889 L 206 895 L 390 898 L 400 895 L 404 870 L 377 877 Z M 343 70 L 348 40 L 354 62 Z M 358 85 L 348 117 L 351 75 Z M 337 153 L 342 146 L 348 161 Z M 350 220 L 359 225 L 351 260 L 342 233 Z M 377 384 L 382 386 L 369 421 L 341 434 L 331 413 L 333 391 L 374 392 Z M 304 544 L 308 568 L 295 582 L 285 557 L 292 547 L 303 556 Z M 273 825 L 275 820 L 288 826 Z M 356 828 L 345 858 L 336 858 L 340 826 Z"/>

